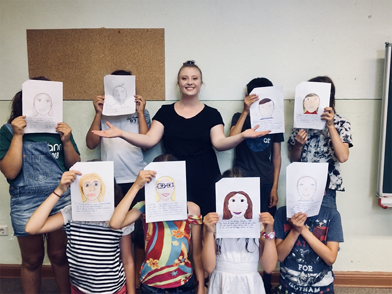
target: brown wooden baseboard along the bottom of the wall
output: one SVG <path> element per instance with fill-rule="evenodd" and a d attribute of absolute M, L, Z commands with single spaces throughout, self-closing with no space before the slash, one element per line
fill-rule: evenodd
<path fill-rule="evenodd" d="M 392 288 L 392 272 L 334 271 L 335 287 Z M 21 265 L 0 264 L 0 278 L 20 278 Z M 42 266 L 43 278 L 54 278 L 51 266 Z M 272 284 L 279 284 L 279 271 L 272 273 Z"/>

